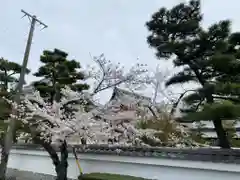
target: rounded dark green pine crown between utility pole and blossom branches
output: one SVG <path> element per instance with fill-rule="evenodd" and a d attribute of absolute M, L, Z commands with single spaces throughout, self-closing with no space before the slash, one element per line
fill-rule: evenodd
<path fill-rule="evenodd" d="M 79 81 L 84 80 L 84 74 L 80 71 L 81 65 L 75 60 L 68 60 L 68 54 L 54 49 L 54 51 L 43 52 L 40 61 L 44 64 L 34 75 L 42 77 L 43 80 L 34 83 L 34 87 L 38 90 L 42 97 L 60 99 L 60 90 L 68 85 L 74 91 L 81 92 L 88 89 L 87 84 Z"/>

